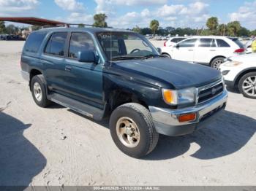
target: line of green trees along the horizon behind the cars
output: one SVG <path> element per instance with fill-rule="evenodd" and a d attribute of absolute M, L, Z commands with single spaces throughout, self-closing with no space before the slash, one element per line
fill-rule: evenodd
<path fill-rule="evenodd" d="M 108 23 L 106 19 L 108 18 L 107 15 L 104 13 L 94 15 L 94 23 L 93 26 L 97 27 L 108 27 Z M 78 27 L 84 27 L 81 23 Z M 238 21 L 233 21 L 227 24 L 221 23 L 219 24 L 219 20 L 217 17 L 210 17 L 206 22 L 207 28 L 173 28 L 171 26 L 166 28 L 159 27 L 158 20 L 151 20 L 148 27 L 141 28 L 140 26 L 135 26 L 134 28 L 129 30 L 135 31 L 139 34 L 152 34 L 155 36 L 156 34 L 160 36 L 167 36 L 167 35 L 221 35 L 221 36 L 256 36 L 256 30 L 249 31 L 249 29 L 241 26 Z M 40 26 L 31 26 L 32 31 L 36 31 Z M 5 26 L 4 21 L 0 21 L 0 34 L 18 34 L 22 30 L 28 30 L 29 28 L 19 28 L 14 25 Z"/>

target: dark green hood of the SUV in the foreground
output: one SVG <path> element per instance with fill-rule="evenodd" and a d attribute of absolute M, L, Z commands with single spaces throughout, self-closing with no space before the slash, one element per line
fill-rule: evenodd
<path fill-rule="evenodd" d="M 200 87 L 221 79 L 220 72 L 209 66 L 170 58 L 116 61 L 115 65 L 122 70 L 167 82 L 176 89 Z"/>

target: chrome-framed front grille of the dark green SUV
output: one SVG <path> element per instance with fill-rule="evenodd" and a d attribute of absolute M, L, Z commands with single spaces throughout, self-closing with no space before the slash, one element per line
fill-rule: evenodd
<path fill-rule="evenodd" d="M 197 93 L 197 104 L 203 103 L 216 97 L 224 90 L 224 85 L 222 82 L 216 82 L 211 85 L 198 88 Z"/>

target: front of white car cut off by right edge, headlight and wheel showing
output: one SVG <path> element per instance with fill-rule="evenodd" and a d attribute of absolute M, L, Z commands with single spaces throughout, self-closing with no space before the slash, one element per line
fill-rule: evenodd
<path fill-rule="evenodd" d="M 247 98 L 256 99 L 256 53 L 227 58 L 219 69 L 227 86 L 238 88 Z"/>

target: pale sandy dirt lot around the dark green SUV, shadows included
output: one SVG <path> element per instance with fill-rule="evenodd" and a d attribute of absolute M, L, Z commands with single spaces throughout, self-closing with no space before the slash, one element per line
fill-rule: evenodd
<path fill-rule="evenodd" d="M 34 104 L 20 77 L 23 42 L 0 41 L 0 185 L 255 185 L 256 101 L 230 92 L 226 111 L 189 136 L 160 136 L 138 160 L 94 122 Z"/>

